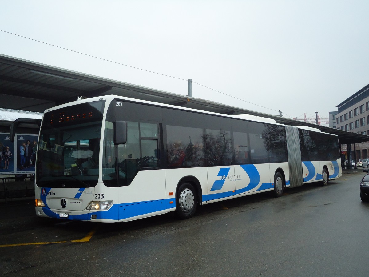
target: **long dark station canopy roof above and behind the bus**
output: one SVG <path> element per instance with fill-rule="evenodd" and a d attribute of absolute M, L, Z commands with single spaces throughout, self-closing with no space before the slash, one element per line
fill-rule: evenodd
<path fill-rule="evenodd" d="M 91 98 L 110 94 L 208 112 L 268 117 L 276 120 L 277 123 L 292 126 L 303 125 L 320 129 L 326 133 L 337 134 L 341 144 L 369 141 L 369 136 L 362 134 L 0 55 L 0 108 L 42 113 L 50 107 L 75 101 L 79 96 Z"/>

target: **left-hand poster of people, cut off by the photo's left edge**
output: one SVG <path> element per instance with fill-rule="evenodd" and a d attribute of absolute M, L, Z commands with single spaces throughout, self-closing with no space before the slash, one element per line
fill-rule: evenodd
<path fill-rule="evenodd" d="M 14 143 L 9 134 L 0 133 L 0 174 L 14 173 Z"/>

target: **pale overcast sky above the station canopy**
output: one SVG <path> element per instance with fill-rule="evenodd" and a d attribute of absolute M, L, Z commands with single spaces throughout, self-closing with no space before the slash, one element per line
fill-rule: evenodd
<path fill-rule="evenodd" d="M 196 98 L 327 118 L 369 83 L 368 14 L 367 0 L 3 1 L 0 54 L 180 95 L 192 79 Z"/>

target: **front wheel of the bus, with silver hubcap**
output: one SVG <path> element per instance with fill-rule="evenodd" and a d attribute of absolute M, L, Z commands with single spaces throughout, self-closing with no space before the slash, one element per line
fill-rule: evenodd
<path fill-rule="evenodd" d="M 190 183 L 183 183 L 178 188 L 176 199 L 176 212 L 181 219 L 190 218 L 197 209 L 197 195 Z"/>

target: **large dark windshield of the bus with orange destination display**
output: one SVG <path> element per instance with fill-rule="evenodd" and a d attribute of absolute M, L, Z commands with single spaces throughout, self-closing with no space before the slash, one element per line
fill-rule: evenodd
<path fill-rule="evenodd" d="M 44 114 L 35 172 L 38 187 L 96 186 L 104 104 L 82 103 Z"/>

